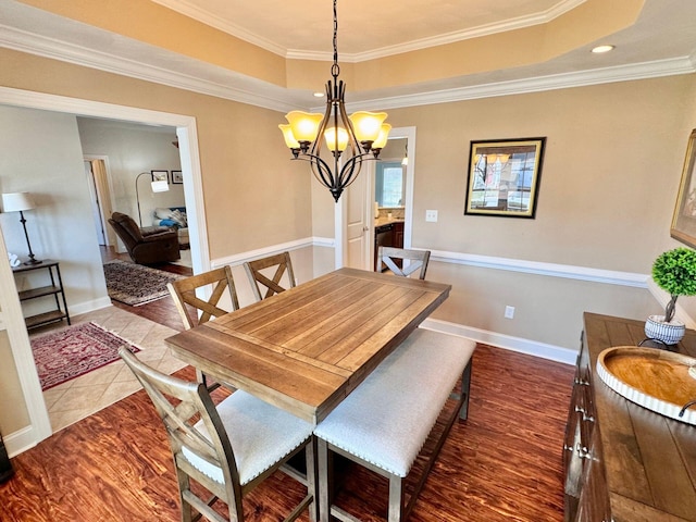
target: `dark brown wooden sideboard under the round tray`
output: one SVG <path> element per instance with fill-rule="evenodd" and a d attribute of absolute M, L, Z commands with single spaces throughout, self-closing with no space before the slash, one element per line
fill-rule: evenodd
<path fill-rule="evenodd" d="M 636 346 L 643 328 L 584 314 L 563 444 L 567 522 L 696 522 L 696 426 L 624 399 L 597 375 L 599 353 Z M 673 349 L 696 357 L 696 332 Z"/>

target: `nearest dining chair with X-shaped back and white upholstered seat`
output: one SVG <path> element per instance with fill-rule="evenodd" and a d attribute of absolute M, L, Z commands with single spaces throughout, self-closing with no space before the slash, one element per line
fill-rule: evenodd
<path fill-rule="evenodd" d="M 307 495 L 285 519 L 296 520 L 310 509 L 316 519 L 314 476 L 315 443 L 312 425 L 243 390 L 214 406 L 202 383 L 165 375 L 121 347 L 119 355 L 138 378 L 170 440 L 178 480 L 182 521 L 198 520 L 196 512 L 214 522 L 243 522 L 243 498 L 276 471 L 284 471 L 307 486 Z M 307 473 L 289 469 L 287 461 L 306 450 Z M 191 490 L 191 480 L 211 498 Z M 213 505 L 227 504 L 222 517 Z"/>

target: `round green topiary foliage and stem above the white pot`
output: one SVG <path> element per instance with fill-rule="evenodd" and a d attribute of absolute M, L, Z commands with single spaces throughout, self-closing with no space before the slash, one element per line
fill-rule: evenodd
<path fill-rule="evenodd" d="M 682 247 L 661 253 L 652 264 L 652 281 L 672 297 L 664 308 L 664 322 L 669 323 L 676 298 L 696 295 L 696 250 Z"/>

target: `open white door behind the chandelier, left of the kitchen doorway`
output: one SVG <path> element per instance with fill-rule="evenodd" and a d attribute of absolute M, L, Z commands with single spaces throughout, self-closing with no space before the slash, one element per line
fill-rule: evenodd
<path fill-rule="evenodd" d="M 370 222 L 366 191 L 370 191 L 374 162 L 366 161 L 358 178 L 346 189 L 346 250 L 347 265 L 352 269 L 372 270 L 370 263 Z"/>

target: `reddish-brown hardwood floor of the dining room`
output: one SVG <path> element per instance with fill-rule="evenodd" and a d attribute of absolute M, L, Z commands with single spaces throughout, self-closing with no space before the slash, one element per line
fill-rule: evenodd
<path fill-rule="evenodd" d="M 410 521 L 562 521 L 572 366 L 483 345 L 473 364 L 469 420 L 452 427 Z M 177 375 L 194 378 L 190 368 Z M 0 521 L 179 520 L 166 438 L 142 390 L 12 463 L 14 477 L 0 485 Z M 301 496 L 276 474 L 245 498 L 245 514 L 282 520 Z M 351 468 L 337 502 L 372 522 L 384 520 L 386 497 L 386 481 Z"/>

